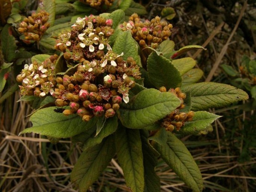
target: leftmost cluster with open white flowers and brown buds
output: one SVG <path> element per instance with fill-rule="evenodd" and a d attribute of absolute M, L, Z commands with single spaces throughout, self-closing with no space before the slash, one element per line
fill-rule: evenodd
<path fill-rule="evenodd" d="M 33 64 L 25 64 L 21 74 L 16 77 L 22 86 L 19 86 L 21 95 L 34 95 L 38 97 L 46 96 L 48 93 L 53 95 L 56 80 L 54 77 L 55 63 L 57 55 L 50 56 L 41 64 L 36 61 Z"/>

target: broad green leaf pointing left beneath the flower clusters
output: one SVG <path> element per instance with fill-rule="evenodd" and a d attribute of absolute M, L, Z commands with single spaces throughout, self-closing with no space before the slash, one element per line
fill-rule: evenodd
<path fill-rule="evenodd" d="M 55 107 L 43 108 L 35 112 L 30 121 L 33 127 L 26 128 L 19 134 L 38 133 L 56 138 L 72 137 L 83 131 L 92 128 L 98 119 L 92 118 L 89 122 L 84 122 L 78 115 L 64 116 L 62 113 L 53 111 Z"/>

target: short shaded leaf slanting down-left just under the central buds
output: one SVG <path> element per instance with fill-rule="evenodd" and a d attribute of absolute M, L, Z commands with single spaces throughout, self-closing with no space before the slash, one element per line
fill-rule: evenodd
<path fill-rule="evenodd" d="M 117 122 L 116 116 L 108 118 L 101 132 L 99 132 L 99 134 L 95 136 L 95 133 L 92 133 L 92 135 L 87 140 L 84 140 L 82 145 L 83 151 L 101 143 L 105 137 L 111 135 L 117 130 L 117 126 L 118 126 L 118 122 Z"/>

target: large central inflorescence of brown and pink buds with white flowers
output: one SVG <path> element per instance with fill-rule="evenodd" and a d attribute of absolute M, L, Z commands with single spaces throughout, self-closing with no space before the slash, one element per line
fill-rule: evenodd
<path fill-rule="evenodd" d="M 60 35 L 55 47 L 64 52 L 65 63 L 76 65 L 76 71 L 54 78 L 54 87 L 48 93 L 56 98 L 56 106 L 69 106 L 64 115 L 78 114 L 84 121 L 102 115 L 109 118 L 116 114 L 122 102 L 129 102 L 129 90 L 135 86 L 134 80 L 141 78 L 141 73 L 133 58 L 125 61 L 123 53 L 112 51 L 108 44 L 108 37 L 113 33 L 111 26 L 111 19 L 90 15 L 78 18 L 71 32 Z M 17 77 L 22 77 L 19 82 L 24 85 L 27 76 L 23 76 L 28 68 L 32 67 L 26 66 Z"/>

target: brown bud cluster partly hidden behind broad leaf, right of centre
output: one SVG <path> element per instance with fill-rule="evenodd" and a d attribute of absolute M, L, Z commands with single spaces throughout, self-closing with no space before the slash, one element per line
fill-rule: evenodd
<path fill-rule="evenodd" d="M 161 92 L 166 92 L 165 87 L 160 87 Z M 176 89 L 169 89 L 168 92 L 173 93 L 181 100 L 181 105 L 176 108 L 169 115 L 164 117 L 161 120 L 161 125 L 166 128 L 167 131 L 179 131 L 182 126 L 184 126 L 185 122 L 192 121 L 194 117 L 194 111 L 189 111 L 188 113 L 180 112 L 180 109 L 185 108 L 184 99 L 186 98 L 186 94 L 181 92 L 181 89 L 177 87 Z"/>

